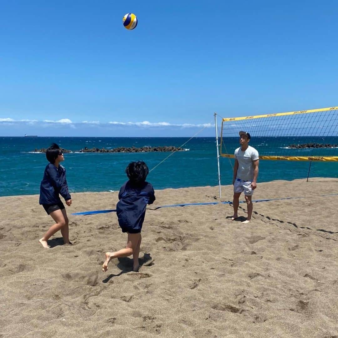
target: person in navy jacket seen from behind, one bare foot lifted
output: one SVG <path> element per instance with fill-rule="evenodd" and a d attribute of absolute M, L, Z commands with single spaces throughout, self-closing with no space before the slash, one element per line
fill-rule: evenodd
<path fill-rule="evenodd" d="M 129 180 L 120 189 L 116 214 L 122 232 L 128 234 L 127 245 L 125 249 L 105 253 L 102 271 L 107 271 L 108 264 L 113 258 L 131 255 L 133 271 L 139 270 L 142 224 L 146 206 L 154 202 L 155 193 L 152 185 L 146 182 L 149 169 L 143 161 L 129 163 L 125 171 Z"/>

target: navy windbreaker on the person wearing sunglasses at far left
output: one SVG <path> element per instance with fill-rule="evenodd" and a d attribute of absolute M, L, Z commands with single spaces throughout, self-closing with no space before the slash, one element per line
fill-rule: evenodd
<path fill-rule="evenodd" d="M 40 184 L 40 204 L 57 204 L 61 201 L 59 194 L 68 201 L 71 197 L 66 180 L 66 169 L 59 165 L 49 163 L 45 168 Z"/>

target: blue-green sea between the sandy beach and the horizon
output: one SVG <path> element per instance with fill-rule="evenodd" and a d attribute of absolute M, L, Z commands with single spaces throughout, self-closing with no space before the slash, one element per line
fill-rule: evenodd
<path fill-rule="evenodd" d="M 179 147 L 189 138 L 105 138 L 105 137 L 0 137 L 0 196 L 39 194 L 40 182 L 47 165 L 44 153 L 34 153 L 35 148 L 47 148 L 52 142 L 60 147 L 78 151 L 84 147 L 116 148 L 142 146 Z M 277 140 L 278 141 L 278 140 Z M 306 138 L 281 139 L 281 149 L 292 143 L 318 142 Z M 330 140 L 338 143 L 338 138 Z M 274 144 L 274 146 L 272 146 Z M 276 140 L 256 140 L 251 144 L 258 151 L 276 154 Z M 238 144 L 239 146 L 239 144 Z M 271 148 L 269 148 L 271 147 Z M 214 137 L 193 138 L 162 164 L 151 171 L 147 180 L 155 189 L 218 185 L 216 142 Z M 231 149 L 230 153 L 233 153 Z M 322 149 L 323 150 L 323 149 Z M 306 151 L 306 150 L 305 150 Z M 318 150 L 319 151 L 319 150 Z M 330 154 L 330 149 L 324 149 Z M 337 151 L 335 152 L 335 154 Z M 315 155 L 315 153 L 311 153 Z M 125 167 L 131 161 L 143 160 L 149 170 L 163 161 L 170 152 L 142 153 L 66 153 L 62 165 L 67 170 L 67 182 L 71 192 L 116 191 L 127 179 Z M 234 160 L 220 159 L 221 184 L 232 184 Z M 308 161 L 260 161 L 258 182 L 275 179 L 292 180 L 306 178 Z M 310 177 L 338 177 L 337 162 L 312 162 Z M 216 194 L 216 191 L 215 191 Z"/>

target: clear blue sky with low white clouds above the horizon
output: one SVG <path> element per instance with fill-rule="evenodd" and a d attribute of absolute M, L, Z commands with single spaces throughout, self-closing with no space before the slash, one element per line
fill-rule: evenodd
<path fill-rule="evenodd" d="M 214 112 L 335 106 L 337 12 L 311 0 L 3 1 L 0 135 L 213 136 Z"/>

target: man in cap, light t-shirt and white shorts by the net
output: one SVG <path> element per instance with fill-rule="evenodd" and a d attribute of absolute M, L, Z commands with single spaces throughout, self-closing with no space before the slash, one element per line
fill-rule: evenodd
<path fill-rule="evenodd" d="M 240 147 L 235 150 L 234 166 L 234 216 L 231 220 L 238 218 L 239 196 L 244 191 L 245 201 L 248 208 L 248 217 L 242 223 L 249 223 L 252 215 L 252 194 L 257 187 L 259 155 L 258 151 L 249 146 L 251 136 L 248 132 L 239 132 Z"/>

